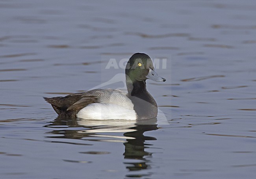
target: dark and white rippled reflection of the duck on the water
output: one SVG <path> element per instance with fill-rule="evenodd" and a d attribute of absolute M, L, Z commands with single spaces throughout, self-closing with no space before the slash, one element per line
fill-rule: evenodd
<path fill-rule="evenodd" d="M 48 136 L 49 138 L 123 142 L 125 146 L 124 159 L 133 159 L 131 162 L 129 160 L 129 162 L 124 162 L 124 164 L 128 170 L 136 171 L 150 168 L 149 158 L 152 153 L 145 151 L 145 149 L 150 148 L 152 144 L 145 144 L 145 141 L 157 139 L 145 136 L 143 133 L 157 130 L 156 122 L 156 118 L 135 122 L 127 120 L 95 121 L 59 116 L 45 127 L 54 129 L 47 132 L 47 134 L 53 134 L 53 136 Z M 116 133 L 123 133 L 123 135 L 114 135 Z"/>

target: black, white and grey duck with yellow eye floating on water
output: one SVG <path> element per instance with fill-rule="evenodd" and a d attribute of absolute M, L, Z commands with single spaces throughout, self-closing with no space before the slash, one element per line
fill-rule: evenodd
<path fill-rule="evenodd" d="M 165 82 L 156 73 L 152 59 L 145 53 L 135 53 L 125 68 L 127 92 L 120 89 L 92 89 L 64 97 L 43 97 L 59 116 L 88 120 L 156 118 L 156 100 L 146 88 L 146 80 Z"/>

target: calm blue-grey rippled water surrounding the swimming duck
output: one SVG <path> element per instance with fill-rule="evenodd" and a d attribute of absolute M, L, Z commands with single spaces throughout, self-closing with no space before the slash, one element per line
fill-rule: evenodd
<path fill-rule="evenodd" d="M 255 10 L 253 0 L 1 0 L 1 178 L 253 178 Z M 136 52 L 167 59 L 156 69 L 166 82 L 147 82 L 158 121 L 59 119 L 43 100 L 125 89 L 124 69 L 104 67 Z"/>

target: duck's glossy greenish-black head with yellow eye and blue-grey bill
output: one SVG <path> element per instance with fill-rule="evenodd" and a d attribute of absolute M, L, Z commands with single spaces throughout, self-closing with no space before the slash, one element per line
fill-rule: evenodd
<path fill-rule="evenodd" d="M 125 74 L 134 82 L 142 80 L 165 81 L 154 70 L 151 58 L 145 53 L 135 53 L 126 64 Z"/>

